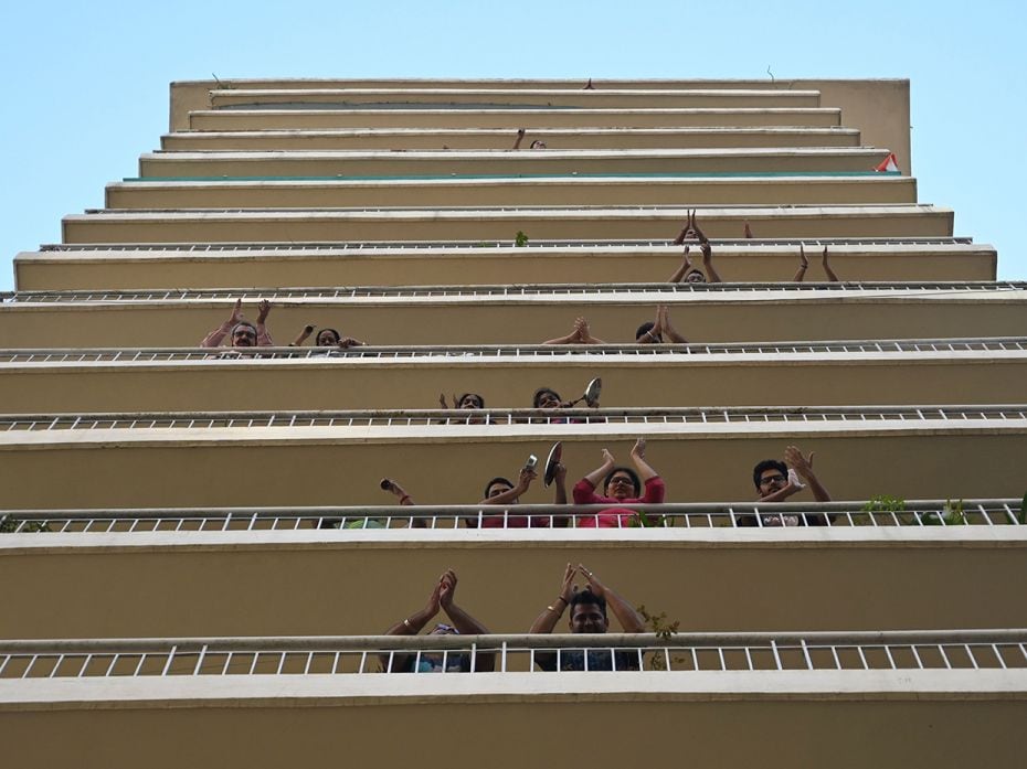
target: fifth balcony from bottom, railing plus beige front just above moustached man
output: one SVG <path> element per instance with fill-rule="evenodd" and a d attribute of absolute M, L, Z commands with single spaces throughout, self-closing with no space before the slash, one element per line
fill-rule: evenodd
<path fill-rule="evenodd" d="M 231 314 L 236 297 L 251 317 L 258 299 L 274 303 L 268 324 L 279 342 L 314 323 L 384 345 L 533 345 L 569 333 L 579 316 L 600 339 L 633 342 L 656 305 L 668 306 L 686 339 L 702 343 L 918 339 L 928 332 L 965 339 L 1027 328 L 1027 288 L 1017 282 L 42 291 L 0 302 L 0 349 L 199 343 Z"/>

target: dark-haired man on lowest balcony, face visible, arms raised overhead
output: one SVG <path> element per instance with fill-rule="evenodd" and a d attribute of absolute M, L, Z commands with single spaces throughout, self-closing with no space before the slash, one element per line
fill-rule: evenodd
<path fill-rule="evenodd" d="M 580 590 L 574 584 L 574 576 L 578 574 L 581 574 L 589 583 Z M 607 607 L 617 618 L 624 632 L 645 632 L 645 622 L 642 617 L 616 590 L 603 585 L 594 573 L 581 564 L 576 567 L 568 564 L 559 595 L 550 606 L 542 610 L 528 632 L 551 633 L 563 612 L 570 609 L 568 626 L 572 633 L 605 633 L 610 627 L 610 619 L 606 616 Z M 611 654 L 608 649 L 590 649 L 587 652 L 582 649 L 569 649 L 560 652 L 559 670 L 585 670 L 586 654 L 590 671 L 612 671 L 614 663 L 618 671 L 639 669 L 636 651 L 623 650 Z M 555 671 L 558 669 L 557 653 L 537 651 L 534 663 L 544 671 Z"/>

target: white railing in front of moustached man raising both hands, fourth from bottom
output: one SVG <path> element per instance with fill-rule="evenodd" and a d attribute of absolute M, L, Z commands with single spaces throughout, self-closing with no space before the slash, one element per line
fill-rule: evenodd
<path fill-rule="evenodd" d="M 218 360 L 410 360 L 438 357 L 653 357 L 698 355 L 829 355 L 883 353 L 1024 352 L 1027 337 L 968 339 L 892 339 L 782 342 L 692 342 L 686 344 L 421 344 L 337 348 L 260 348 L 255 355 L 233 356 L 232 351 L 207 348 L 40 348 L 0 350 L 4 363 L 153 363 L 161 361 Z M 226 357 L 220 357 L 229 353 Z"/>

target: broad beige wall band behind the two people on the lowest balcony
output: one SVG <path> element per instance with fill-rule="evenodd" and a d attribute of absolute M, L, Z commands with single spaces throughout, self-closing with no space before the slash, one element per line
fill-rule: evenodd
<path fill-rule="evenodd" d="M 1021 530 L 0 534 L 0 578 L 31 586 L 6 598 L 0 637 L 375 634 L 421 609 L 447 568 L 462 607 L 520 633 L 568 563 L 682 632 L 1020 628 Z"/>

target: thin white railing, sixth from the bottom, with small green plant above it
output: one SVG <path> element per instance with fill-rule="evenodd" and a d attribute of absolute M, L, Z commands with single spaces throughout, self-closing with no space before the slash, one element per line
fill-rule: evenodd
<path fill-rule="evenodd" d="M 971 245 L 970 237 L 820 237 L 815 241 L 801 238 L 711 238 L 710 243 L 717 246 L 752 247 L 752 246 L 794 246 L 800 243 L 816 243 L 824 246 L 947 246 Z M 367 241 L 359 243 L 348 242 L 304 242 L 304 243 L 45 243 L 40 246 L 41 253 L 47 252 L 361 252 L 379 249 L 424 250 L 437 248 L 509 248 L 510 241 Z M 604 241 L 567 241 L 567 239 L 531 239 L 522 247 L 523 253 L 542 248 L 674 248 L 680 246 L 667 239 L 624 238 Z"/>

